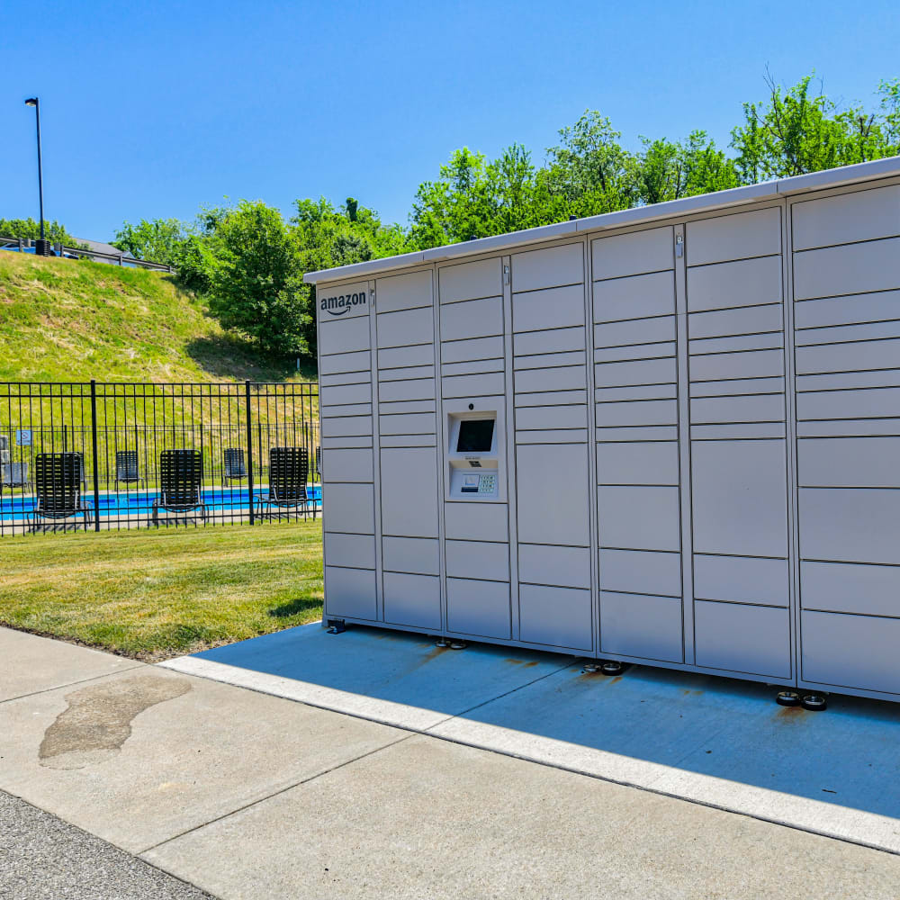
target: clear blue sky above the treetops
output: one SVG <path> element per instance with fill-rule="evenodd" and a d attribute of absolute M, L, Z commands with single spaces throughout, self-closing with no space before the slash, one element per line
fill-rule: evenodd
<path fill-rule="evenodd" d="M 896 0 L 4 5 L 0 217 L 37 217 L 39 94 L 47 217 L 82 238 L 225 195 L 355 196 L 405 224 L 455 148 L 540 161 L 586 108 L 633 148 L 727 142 L 767 65 L 846 102 L 900 76 Z"/>

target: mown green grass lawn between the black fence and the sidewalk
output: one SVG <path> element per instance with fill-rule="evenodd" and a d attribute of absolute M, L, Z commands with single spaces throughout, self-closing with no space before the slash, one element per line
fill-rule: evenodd
<path fill-rule="evenodd" d="M 0 625 L 156 661 L 320 619 L 321 520 L 5 538 Z"/>

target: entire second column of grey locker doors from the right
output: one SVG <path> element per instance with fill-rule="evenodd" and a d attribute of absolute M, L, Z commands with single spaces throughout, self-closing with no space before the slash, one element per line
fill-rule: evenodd
<path fill-rule="evenodd" d="M 794 678 L 778 207 L 687 227 L 698 666 Z"/>

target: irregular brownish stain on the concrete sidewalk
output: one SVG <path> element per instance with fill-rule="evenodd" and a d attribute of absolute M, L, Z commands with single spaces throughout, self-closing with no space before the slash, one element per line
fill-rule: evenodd
<path fill-rule="evenodd" d="M 90 685 L 66 695 L 67 708 L 44 732 L 40 765 L 84 769 L 115 756 L 131 735 L 131 722 L 157 703 L 181 697 L 187 679 L 137 675 Z"/>

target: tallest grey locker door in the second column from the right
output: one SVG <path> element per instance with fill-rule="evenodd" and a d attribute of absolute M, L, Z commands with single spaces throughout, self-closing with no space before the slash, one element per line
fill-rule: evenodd
<path fill-rule="evenodd" d="M 784 441 L 695 441 L 691 470 L 695 553 L 788 555 Z"/>

